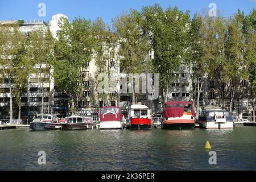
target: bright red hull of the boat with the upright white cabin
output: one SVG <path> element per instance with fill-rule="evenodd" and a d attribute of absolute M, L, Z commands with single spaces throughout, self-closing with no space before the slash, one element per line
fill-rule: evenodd
<path fill-rule="evenodd" d="M 152 121 L 148 118 L 131 118 L 130 129 L 131 130 L 150 130 L 152 129 Z"/>

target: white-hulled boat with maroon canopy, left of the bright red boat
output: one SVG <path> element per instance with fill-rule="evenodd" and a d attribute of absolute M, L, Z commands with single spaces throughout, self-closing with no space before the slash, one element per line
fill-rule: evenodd
<path fill-rule="evenodd" d="M 107 106 L 100 109 L 100 129 L 123 129 L 121 107 Z"/>

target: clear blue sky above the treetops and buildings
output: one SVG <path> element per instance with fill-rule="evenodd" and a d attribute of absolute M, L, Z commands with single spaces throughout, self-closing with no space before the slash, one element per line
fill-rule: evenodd
<path fill-rule="evenodd" d="M 191 15 L 196 11 L 208 10 L 209 3 L 216 3 L 217 10 L 224 16 L 230 16 L 238 9 L 249 14 L 256 9 L 256 0 L 0 0 L 0 20 L 18 19 L 44 19 L 51 20 L 53 14 L 62 13 L 68 16 L 70 21 L 81 16 L 94 20 L 101 17 L 106 23 L 130 8 L 140 10 L 142 6 L 154 5 L 157 2 L 165 9 L 175 5 L 181 10 L 190 10 Z M 46 16 L 38 16 L 39 3 L 46 4 Z"/>

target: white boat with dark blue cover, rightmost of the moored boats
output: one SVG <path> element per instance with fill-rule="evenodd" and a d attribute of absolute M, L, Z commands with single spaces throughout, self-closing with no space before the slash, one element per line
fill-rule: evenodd
<path fill-rule="evenodd" d="M 202 111 L 198 122 L 204 129 L 232 129 L 234 127 L 234 118 L 230 111 L 221 109 Z"/>

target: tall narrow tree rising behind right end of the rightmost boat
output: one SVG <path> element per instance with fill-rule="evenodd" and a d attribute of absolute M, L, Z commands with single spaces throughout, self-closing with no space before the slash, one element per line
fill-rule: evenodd
<path fill-rule="evenodd" d="M 230 93 L 230 111 L 232 102 L 237 92 L 241 78 L 246 78 L 246 64 L 243 52 L 245 50 L 245 39 L 242 32 L 244 15 L 238 10 L 229 21 L 225 38 L 225 63 L 223 76 Z"/>

